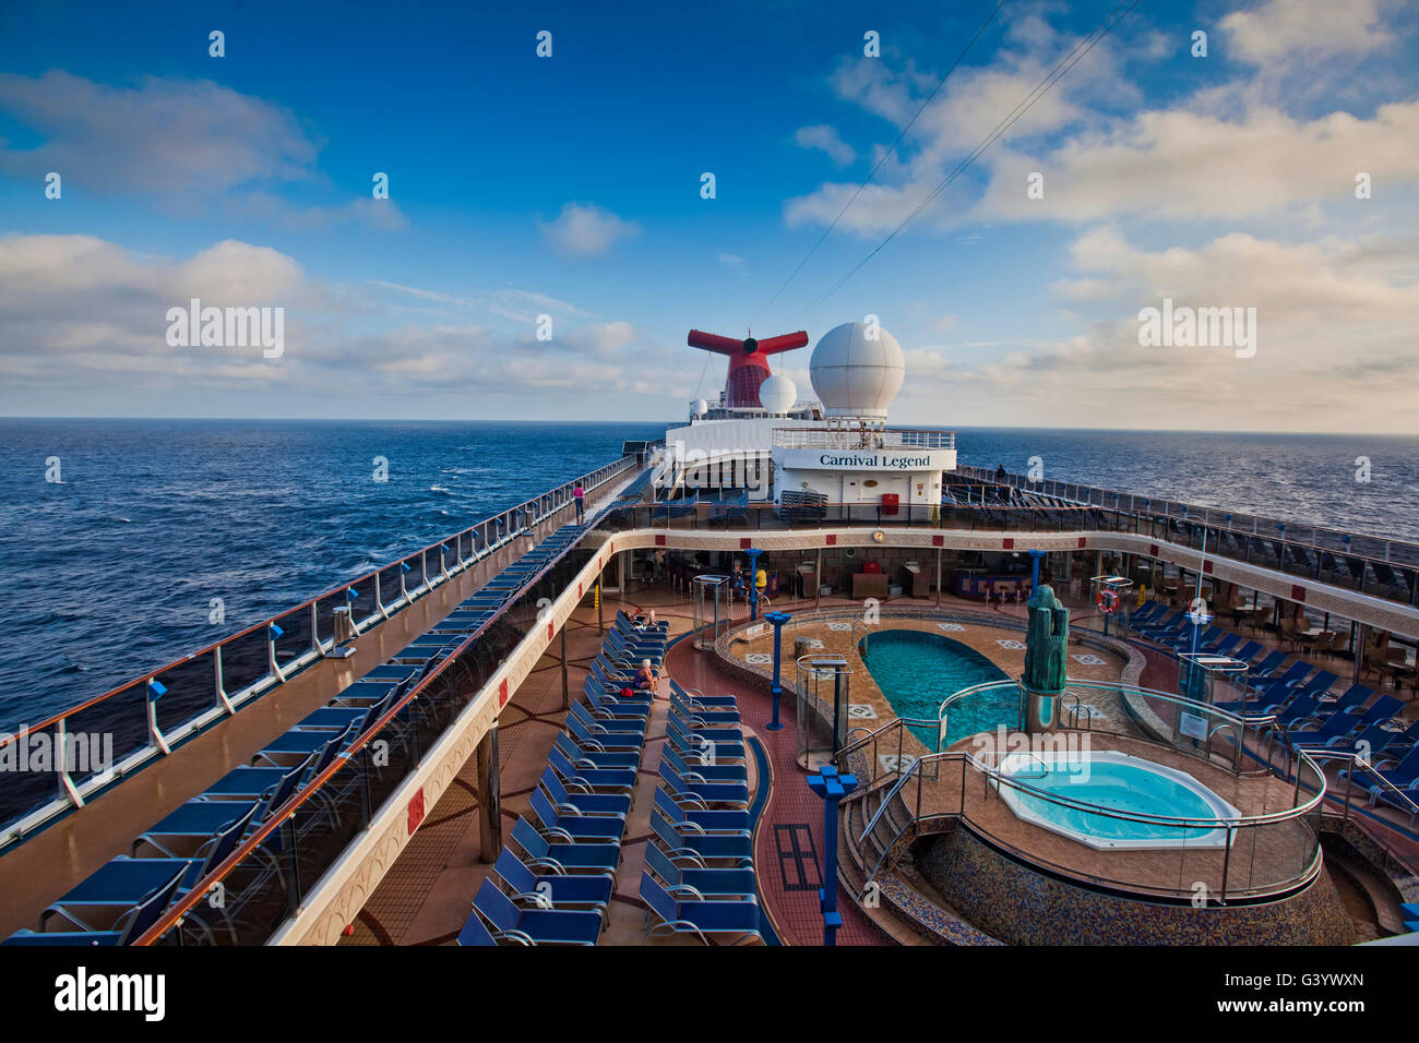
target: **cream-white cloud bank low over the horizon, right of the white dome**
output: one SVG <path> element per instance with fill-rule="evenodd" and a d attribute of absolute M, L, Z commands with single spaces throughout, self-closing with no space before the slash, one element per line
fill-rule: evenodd
<path fill-rule="evenodd" d="M 1219 236 L 1144 250 L 1114 228 L 1071 248 L 1077 280 L 1056 291 L 1087 307 L 1083 332 L 1040 345 L 908 351 L 901 414 L 999 423 L 1009 396 L 1032 423 L 1183 430 L 1419 430 L 1401 390 L 1419 368 L 1419 275 L 1403 244 Z M 1412 245 L 1412 244 L 1409 244 Z M 1257 352 L 1142 348 L 1138 311 L 1256 308 Z"/>

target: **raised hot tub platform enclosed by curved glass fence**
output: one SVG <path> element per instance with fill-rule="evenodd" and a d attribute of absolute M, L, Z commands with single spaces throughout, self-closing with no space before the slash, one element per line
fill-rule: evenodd
<path fill-rule="evenodd" d="M 888 769 L 873 751 L 902 722 L 844 746 L 841 769 L 888 786 L 858 837 L 884 841 L 873 874 L 934 820 L 1043 870 L 1196 905 L 1283 893 L 1318 870 L 1325 776 L 1305 754 L 1273 773 L 1267 719 L 1111 683 L 1071 681 L 1064 704 L 1064 727 L 1027 735 L 1023 688 L 995 681 L 942 704 L 939 734 L 965 736 L 954 748 Z"/>

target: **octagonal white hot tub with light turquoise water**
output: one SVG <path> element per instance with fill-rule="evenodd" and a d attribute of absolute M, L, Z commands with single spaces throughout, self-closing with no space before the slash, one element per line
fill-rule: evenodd
<path fill-rule="evenodd" d="M 1066 800 L 1165 819 L 1239 819 L 1242 813 L 1186 772 L 1115 749 L 1010 754 L 1000 773 Z M 1098 850 L 1225 847 L 1227 832 L 1134 822 L 1070 807 L 1000 785 L 1016 817 Z"/>

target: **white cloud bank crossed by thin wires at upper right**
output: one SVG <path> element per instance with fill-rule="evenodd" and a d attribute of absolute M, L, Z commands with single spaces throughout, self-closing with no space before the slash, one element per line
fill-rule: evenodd
<path fill-rule="evenodd" d="M 1355 114 L 1340 108 L 1337 96 L 1348 96 L 1344 91 L 1324 95 L 1328 111 L 1314 104 L 1328 68 L 1320 58 L 1365 57 L 1389 45 L 1384 6 L 1381 0 L 1273 0 L 1235 13 L 1223 20 L 1222 31 L 1261 68 L 1244 67 L 1232 81 L 1212 82 L 1168 108 L 1139 104 L 1141 94 L 1122 70 L 1125 60 L 1141 60 L 1138 51 L 1115 40 L 1117 34 L 1105 37 L 912 227 L 941 231 L 972 221 L 1043 217 L 1078 223 L 1121 216 L 1287 216 L 1317 223 L 1325 204 L 1354 204 L 1359 172 L 1376 184 L 1412 184 L 1419 180 L 1419 149 L 1412 145 L 1419 140 L 1419 101 L 1408 91 L 1399 101 L 1357 105 Z M 1156 33 L 1147 27 L 1139 33 L 1148 51 Z M 877 237 L 901 224 L 1073 43 L 1029 16 L 1012 27 L 995 64 L 956 70 L 837 227 Z M 1294 71 L 1307 84 L 1281 89 L 1281 71 Z M 1378 85 L 1385 74 L 1366 75 Z M 1291 79 L 1286 77 L 1286 84 Z M 884 60 L 843 62 L 829 81 L 841 99 L 894 126 L 904 126 L 935 85 L 912 62 L 893 67 Z M 1291 112 L 1287 105 L 1303 95 L 1305 114 Z M 1026 179 L 1034 172 L 1044 177 L 1043 199 L 1026 196 Z M 981 175 L 983 189 L 976 187 Z M 826 183 L 789 199 L 785 221 L 789 227 L 827 226 L 856 190 Z"/>

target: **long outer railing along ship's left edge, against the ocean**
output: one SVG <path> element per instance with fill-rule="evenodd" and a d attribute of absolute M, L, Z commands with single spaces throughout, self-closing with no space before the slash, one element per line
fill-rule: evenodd
<path fill-rule="evenodd" d="M 336 644 L 336 614 L 348 612 L 359 636 L 538 525 L 569 515 L 578 484 L 590 494 L 634 465 L 634 457 L 623 457 L 599 467 L 38 724 L 0 734 L 0 756 L 14 755 L 4 746 L 21 742 L 50 754 L 44 771 L 11 772 L 0 789 L 0 822 L 7 823 L 0 851 L 318 661 Z M 104 741 L 112 759 L 94 756 Z"/>

